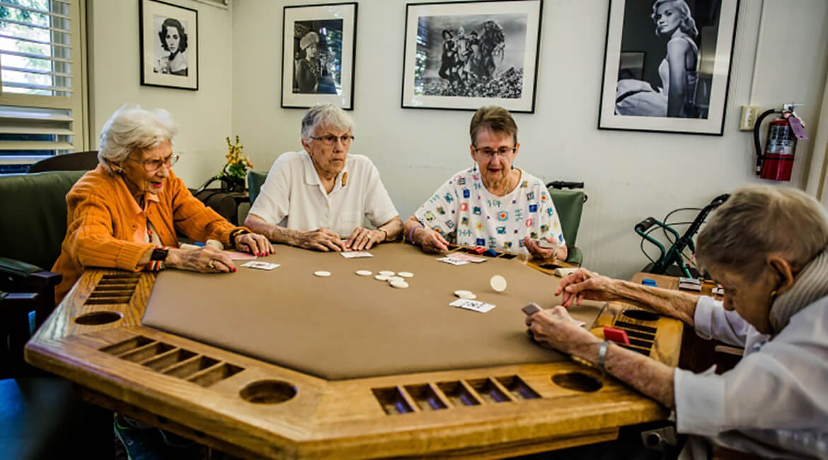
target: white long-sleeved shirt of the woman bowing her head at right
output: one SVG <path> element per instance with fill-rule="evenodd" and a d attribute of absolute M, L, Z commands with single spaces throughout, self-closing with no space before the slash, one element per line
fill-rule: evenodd
<path fill-rule="evenodd" d="M 701 297 L 696 331 L 745 347 L 719 376 L 676 368 L 676 428 L 771 458 L 828 458 L 828 297 L 791 317 L 776 337 Z"/>

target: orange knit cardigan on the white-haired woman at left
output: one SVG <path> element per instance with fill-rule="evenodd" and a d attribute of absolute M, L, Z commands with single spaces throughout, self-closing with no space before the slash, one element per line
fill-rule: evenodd
<path fill-rule="evenodd" d="M 164 185 L 157 201 L 147 196 L 142 209 L 123 180 L 110 175 L 102 165 L 78 180 L 66 195 L 66 237 L 52 267 L 52 271 L 63 275 L 55 288 L 58 303 L 86 267 L 144 269 L 137 266 L 138 260 L 153 247 L 143 242 L 147 218 L 165 246 L 178 246 L 176 230 L 196 242 L 212 238 L 230 244 L 230 232 L 239 227 L 190 194 L 184 181 L 172 171 Z"/>

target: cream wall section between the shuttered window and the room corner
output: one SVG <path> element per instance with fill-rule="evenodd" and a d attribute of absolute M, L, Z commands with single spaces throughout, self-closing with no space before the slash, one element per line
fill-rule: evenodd
<path fill-rule="evenodd" d="M 179 125 L 173 146 L 181 152 L 176 165 L 189 187 L 198 187 L 224 165 L 231 132 L 233 93 L 232 12 L 192 0 L 165 0 L 197 10 L 199 22 L 199 89 L 141 85 L 136 0 L 89 0 L 90 125 L 98 148 L 103 123 L 125 103 L 166 108 Z"/>

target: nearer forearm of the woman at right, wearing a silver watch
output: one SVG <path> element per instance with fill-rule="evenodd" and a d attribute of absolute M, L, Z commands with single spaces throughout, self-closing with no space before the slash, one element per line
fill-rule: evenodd
<path fill-rule="evenodd" d="M 601 347 L 599 338 L 578 347 L 570 354 L 593 364 L 598 363 Z M 667 407 L 676 405 L 672 367 L 645 357 L 614 343 L 609 343 L 604 355 L 604 369 L 620 381 Z"/>

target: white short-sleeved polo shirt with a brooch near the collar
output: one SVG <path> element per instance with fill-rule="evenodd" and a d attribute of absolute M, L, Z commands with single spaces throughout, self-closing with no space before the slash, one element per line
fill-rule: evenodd
<path fill-rule="evenodd" d="M 277 158 L 250 213 L 302 232 L 330 228 L 342 237 L 361 227 L 364 218 L 379 227 L 399 215 L 367 156 L 349 153 L 328 194 L 306 151 Z"/>

